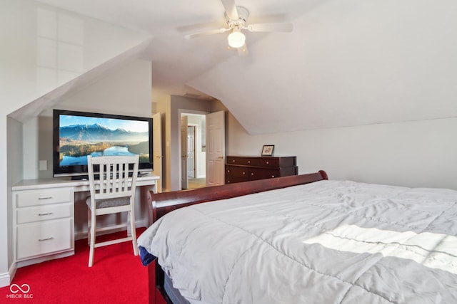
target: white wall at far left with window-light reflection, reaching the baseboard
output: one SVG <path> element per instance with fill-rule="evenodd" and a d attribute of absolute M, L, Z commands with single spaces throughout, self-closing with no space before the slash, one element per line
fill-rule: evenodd
<path fill-rule="evenodd" d="M 36 109 L 53 103 L 51 98 L 44 98 L 51 90 L 62 85 L 65 90 L 59 94 L 65 94 L 81 83 L 74 82 L 75 77 L 88 71 L 94 75 L 94 68 L 150 37 L 37 1 L 1 0 L 0 6 L 0 166 L 4 168 L 0 170 L 1 287 L 9 284 L 13 265 L 11 185 L 24 178 L 19 121 L 24 122 L 21 118 L 30 114 L 38 115 L 40 110 Z M 57 33 L 57 28 L 64 36 L 51 38 L 49 34 Z M 73 44 L 69 51 L 69 44 L 76 40 L 82 45 Z M 35 171 L 34 161 L 36 155 L 27 163 L 31 172 Z"/>

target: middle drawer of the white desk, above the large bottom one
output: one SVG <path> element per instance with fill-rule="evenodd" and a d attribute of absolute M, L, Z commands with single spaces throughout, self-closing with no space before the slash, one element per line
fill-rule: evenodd
<path fill-rule="evenodd" d="M 73 205 L 70 203 L 19 208 L 16 209 L 16 224 L 46 221 L 49 219 L 62 219 L 72 216 L 72 211 Z"/>

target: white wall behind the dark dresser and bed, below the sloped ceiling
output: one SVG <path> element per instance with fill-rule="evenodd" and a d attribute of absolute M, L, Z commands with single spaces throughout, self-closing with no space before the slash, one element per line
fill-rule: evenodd
<path fill-rule="evenodd" d="M 406 187 L 457 189 L 457 118 L 248 135 L 228 115 L 226 154 L 295 155 L 300 174 Z"/>

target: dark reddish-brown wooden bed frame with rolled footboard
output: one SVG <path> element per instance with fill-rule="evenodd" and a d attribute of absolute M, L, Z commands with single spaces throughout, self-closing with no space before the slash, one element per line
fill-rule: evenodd
<path fill-rule="evenodd" d="M 280 189 L 295 186 L 298 184 L 309 184 L 311 182 L 328 179 L 325 171 L 316 173 L 293 175 L 289 177 L 278 177 L 273 179 L 261 179 L 251 182 L 240 182 L 236 184 L 225 184 L 222 186 L 205 187 L 174 192 L 162 192 L 154 194 L 151 192 L 151 204 L 149 204 L 149 217 L 155 222 L 161 216 L 185 206 L 201 204 L 206 201 L 229 199 L 231 197 L 243 196 L 273 189 Z M 160 301 L 160 294 L 166 303 L 172 303 L 164 290 L 164 272 L 161 267 L 156 267 L 156 261 L 148 266 L 149 276 L 149 303 L 163 303 Z"/>

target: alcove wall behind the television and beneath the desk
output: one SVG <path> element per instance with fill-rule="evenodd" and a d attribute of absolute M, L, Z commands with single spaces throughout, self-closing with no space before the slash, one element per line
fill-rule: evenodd
<path fill-rule="evenodd" d="M 125 63 L 116 70 L 110 70 L 99 80 L 86 85 L 71 95 L 60 98 L 54 108 L 61 110 L 78 110 L 83 112 L 100 112 L 107 114 L 151 116 L 151 62 L 135 60 Z M 24 159 L 35 167 L 24 167 L 24 176 L 30 178 L 52 177 L 52 109 L 46 110 L 39 119 L 24 124 Z M 39 171 L 39 160 L 46 160 L 48 169 Z M 25 164 L 25 162 L 24 162 Z M 34 174 L 31 172 L 34 171 Z M 75 234 L 86 236 L 87 231 L 87 193 L 75 195 Z M 136 194 L 137 201 L 141 197 Z M 136 221 L 147 225 L 148 212 L 146 204 L 136 205 Z M 126 220 L 124 216 L 123 219 Z M 114 225 L 119 221 L 116 216 L 105 216 L 99 225 Z"/>

